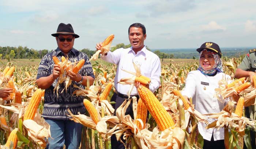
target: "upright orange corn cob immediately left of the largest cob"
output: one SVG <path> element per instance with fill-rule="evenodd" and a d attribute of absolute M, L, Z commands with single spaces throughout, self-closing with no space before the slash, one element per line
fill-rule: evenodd
<path fill-rule="evenodd" d="M 140 124 L 140 122 L 138 120 L 135 120 L 135 125 L 138 126 L 138 128 L 141 130 L 141 129 L 144 129 L 145 128 L 145 125 L 146 125 L 146 120 L 147 120 L 147 107 L 146 105 L 143 103 L 142 99 L 139 98 L 139 101 L 138 101 L 138 108 L 137 108 L 137 117 L 136 119 L 141 119 L 142 122 L 143 122 L 143 128 L 142 128 L 142 125 Z"/>

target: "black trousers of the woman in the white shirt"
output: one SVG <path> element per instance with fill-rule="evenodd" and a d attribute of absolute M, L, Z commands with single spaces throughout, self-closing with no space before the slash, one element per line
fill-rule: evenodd
<path fill-rule="evenodd" d="M 211 141 L 204 139 L 203 149 L 225 149 L 224 140 L 214 141 L 213 134 L 212 134 Z"/>

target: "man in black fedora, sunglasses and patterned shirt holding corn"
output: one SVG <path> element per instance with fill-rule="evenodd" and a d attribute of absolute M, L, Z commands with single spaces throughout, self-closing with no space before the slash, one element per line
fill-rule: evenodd
<path fill-rule="evenodd" d="M 67 109 L 70 109 L 73 114 L 85 113 L 83 97 L 72 96 L 72 93 L 76 90 L 73 86 L 77 85 L 84 88 L 87 79 L 89 79 L 90 85 L 93 85 L 95 76 L 87 55 L 73 48 L 74 40 L 79 36 L 74 33 L 71 24 L 60 23 L 57 32 L 52 36 L 56 38 L 58 47 L 42 58 L 36 81 L 38 88 L 45 89 L 42 117 L 50 124 L 53 138 L 48 139 L 49 143 L 46 148 L 59 149 L 63 148 L 65 144 L 66 149 L 77 149 L 81 141 L 82 125 L 69 120 Z M 71 62 L 85 60 L 78 73 L 65 72 L 72 80 L 72 84 L 67 91 L 64 89 L 65 83 L 60 84 L 59 96 L 53 92 L 57 84 L 57 78 L 60 75 L 60 67 L 54 64 L 53 56 L 56 56 L 59 60 L 61 60 L 61 56 L 65 56 Z M 64 91 L 61 93 L 63 89 Z"/>

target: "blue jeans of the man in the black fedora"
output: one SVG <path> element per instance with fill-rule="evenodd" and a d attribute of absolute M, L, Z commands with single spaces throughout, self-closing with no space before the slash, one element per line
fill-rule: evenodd
<path fill-rule="evenodd" d="M 49 143 L 46 149 L 78 149 L 81 142 L 82 124 L 71 120 L 54 120 L 45 118 L 50 125 L 52 138 L 48 138 Z"/>

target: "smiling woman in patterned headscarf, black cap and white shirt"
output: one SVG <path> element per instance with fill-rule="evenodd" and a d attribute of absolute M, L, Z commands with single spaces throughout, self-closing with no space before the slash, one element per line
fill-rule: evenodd
<path fill-rule="evenodd" d="M 206 42 L 196 49 L 200 53 L 199 68 L 188 73 L 185 89 L 182 95 L 192 98 L 195 109 L 202 114 L 218 113 L 224 107 L 224 102 L 217 99 L 215 88 L 218 88 L 218 81 L 223 76 L 231 80 L 229 75 L 223 73 L 221 49 L 212 42 Z M 230 82 L 228 82 L 230 83 Z M 209 124 L 215 121 L 209 118 Z M 204 138 L 203 149 L 224 149 L 224 129 L 205 129 L 206 124 L 198 123 L 199 133 Z"/>

